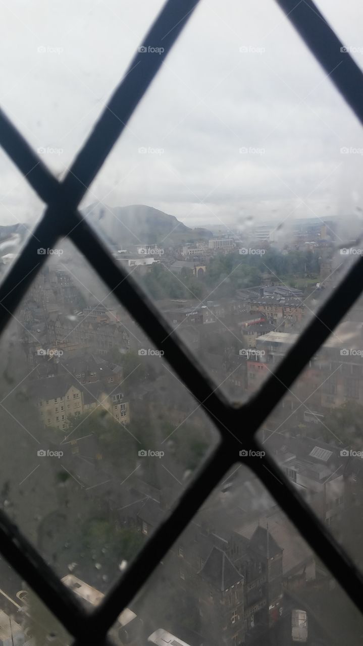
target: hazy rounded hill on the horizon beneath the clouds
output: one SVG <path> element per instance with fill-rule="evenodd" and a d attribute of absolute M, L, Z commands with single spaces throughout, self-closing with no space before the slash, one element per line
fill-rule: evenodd
<path fill-rule="evenodd" d="M 110 244 L 160 244 L 171 247 L 183 242 L 213 238 L 207 229 L 190 229 L 174 215 L 145 204 L 105 207 L 101 203 L 83 209 L 86 219 Z"/>

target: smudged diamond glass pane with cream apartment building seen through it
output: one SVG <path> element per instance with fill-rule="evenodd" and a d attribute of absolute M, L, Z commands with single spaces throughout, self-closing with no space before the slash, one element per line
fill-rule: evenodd
<path fill-rule="evenodd" d="M 105 592 L 218 433 L 67 240 L 0 348 L 8 515 L 61 578 Z"/>

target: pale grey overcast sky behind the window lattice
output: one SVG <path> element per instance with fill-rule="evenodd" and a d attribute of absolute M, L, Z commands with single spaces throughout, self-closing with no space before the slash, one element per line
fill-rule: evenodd
<path fill-rule="evenodd" d="M 317 4 L 362 67 L 362 3 Z M 161 6 L 1 2 L 0 105 L 57 175 Z M 363 151 L 363 130 L 276 3 L 202 0 L 83 205 L 145 203 L 242 229 L 358 213 L 363 158 L 344 147 Z M 2 152 L 0 166 L 0 224 L 35 222 L 41 202 Z"/>

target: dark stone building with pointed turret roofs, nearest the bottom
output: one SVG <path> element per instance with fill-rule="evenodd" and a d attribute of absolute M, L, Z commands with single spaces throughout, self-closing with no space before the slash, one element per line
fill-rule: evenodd
<path fill-rule="evenodd" d="M 174 576 L 200 608 L 200 632 L 238 646 L 247 633 L 273 625 L 282 607 L 282 554 L 268 528 L 249 537 L 193 523 L 172 550 Z"/>

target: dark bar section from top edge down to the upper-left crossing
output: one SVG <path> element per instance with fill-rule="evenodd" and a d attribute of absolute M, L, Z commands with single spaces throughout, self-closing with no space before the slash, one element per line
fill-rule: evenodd
<path fill-rule="evenodd" d="M 125 76 L 63 181 L 63 187 L 74 207 L 81 202 L 198 2 L 199 0 L 167 0 L 143 39 L 143 47 L 163 48 L 163 52 L 156 54 L 139 51 L 132 59 Z"/>

